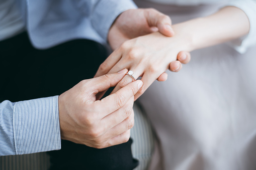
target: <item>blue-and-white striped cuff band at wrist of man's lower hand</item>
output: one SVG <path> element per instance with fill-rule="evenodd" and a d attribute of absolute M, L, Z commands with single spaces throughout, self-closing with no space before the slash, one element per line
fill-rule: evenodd
<path fill-rule="evenodd" d="M 16 102 L 13 123 L 16 154 L 61 148 L 58 96 Z"/>

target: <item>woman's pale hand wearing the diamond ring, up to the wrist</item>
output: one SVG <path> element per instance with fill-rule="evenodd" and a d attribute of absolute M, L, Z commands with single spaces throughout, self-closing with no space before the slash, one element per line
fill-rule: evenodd
<path fill-rule="evenodd" d="M 96 77 L 114 73 L 123 68 L 132 70 L 134 78 L 142 77 L 143 81 L 142 88 L 135 95 L 137 99 L 154 80 L 165 79 L 167 75 L 164 72 L 169 69 L 170 63 L 177 60 L 179 52 L 186 51 L 184 42 L 181 36 L 166 37 L 159 32 L 128 40 L 102 63 Z M 190 58 L 189 53 L 181 54 L 186 54 L 187 58 Z M 180 55 L 180 57 L 183 56 Z M 125 76 L 114 91 L 131 81 L 131 77 Z"/>

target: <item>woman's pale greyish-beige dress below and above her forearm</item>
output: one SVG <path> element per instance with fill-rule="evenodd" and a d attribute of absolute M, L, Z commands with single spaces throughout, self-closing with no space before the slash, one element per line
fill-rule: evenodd
<path fill-rule="evenodd" d="M 135 2 L 173 24 L 221 7 Z M 157 135 L 149 169 L 256 169 L 256 47 L 241 55 L 222 44 L 191 55 L 179 73 L 167 72 L 167 81 L 155 81 L 139 99 Z"/>

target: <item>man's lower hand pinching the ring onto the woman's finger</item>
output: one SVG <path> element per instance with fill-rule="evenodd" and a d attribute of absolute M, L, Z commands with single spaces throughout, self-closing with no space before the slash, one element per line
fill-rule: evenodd
<path fill-rule="evenodd" d="M 142 86 L 138 80 L 102 100 L 97 94 L 116 86 L 127 69 L 119 73 L 83 80 L 59 96 L 61 138 L 87 146 L 104 148 L 129 140 L 134 124 L 134 95 Z"/>

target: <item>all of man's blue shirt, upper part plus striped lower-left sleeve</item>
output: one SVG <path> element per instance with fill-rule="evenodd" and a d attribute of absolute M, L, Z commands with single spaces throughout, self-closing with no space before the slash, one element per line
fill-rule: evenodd
<path fill-rule="evenodd" d="M 73 39 L 106 43 L 117 16 L 136 8 L 130 0 L 19 3 L 31 42 L 39 49 Z M 58 96 L 0 103 L 0 155 L 57 150 L 60 141 Z"/>

